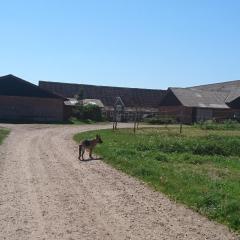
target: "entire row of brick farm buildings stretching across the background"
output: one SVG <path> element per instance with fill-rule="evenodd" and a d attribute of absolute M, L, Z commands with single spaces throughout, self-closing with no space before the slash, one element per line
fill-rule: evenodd
<path fill-rule="evenodd" d="M 177 122 L 240 119 L 240 80 L 167 90 L 95 86 L 40 81 L 39 86 L 13 75 L 0 77 L 0 120 L 54 122 L 67 120 L 81 95 L 83 104 L 98 105 L 108 120 L 116 106 L 120 121 L 136 113 L 170 117 Z"/>

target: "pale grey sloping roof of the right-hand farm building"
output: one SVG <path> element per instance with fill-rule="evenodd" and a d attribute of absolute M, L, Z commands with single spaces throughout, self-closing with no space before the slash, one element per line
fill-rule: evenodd
<path fill-rule="evenodd" d="M 186 107 L 229 108 L 225 103 L 229 92 L 203 91 L 196 88 L 170 88 Z"/>

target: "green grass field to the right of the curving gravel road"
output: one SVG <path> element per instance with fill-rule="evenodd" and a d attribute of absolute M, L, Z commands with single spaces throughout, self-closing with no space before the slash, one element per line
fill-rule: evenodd
<path fill-rule="evenodd" d="M 171 199 L 240 232 L 240 131 L 145 128 L 100 130 L 96 153 Z"/>

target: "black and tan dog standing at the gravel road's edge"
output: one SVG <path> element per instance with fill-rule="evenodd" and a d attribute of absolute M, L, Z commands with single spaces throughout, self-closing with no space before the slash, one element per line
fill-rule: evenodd
<path fill-rule="evenodd" d="M 89 158 L 93 159 L 92 157 L 92 151 L 96 147 L 98 143 L 103 143 L 100 135 L 96 135 L 96 138 L 92 140 L 83 140 L 79 144 L 79 160 L 84 160 L 83 155 L 85 153 L 85 150 L 87 149 L 89 151 Z"/>

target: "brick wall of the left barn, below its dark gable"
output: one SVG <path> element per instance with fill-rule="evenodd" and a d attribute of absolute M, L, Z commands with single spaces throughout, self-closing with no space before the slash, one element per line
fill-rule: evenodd
<path fill-rule="evenodd" d="M 0 119 L 22 121 L 62 121 L 63 100 L 0 96 Z"/>

